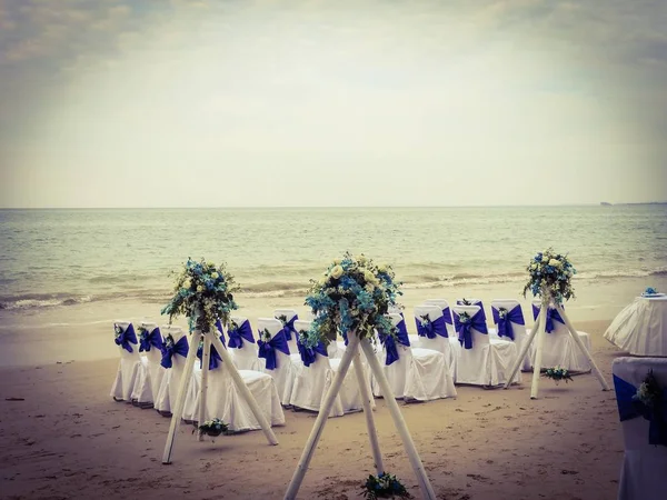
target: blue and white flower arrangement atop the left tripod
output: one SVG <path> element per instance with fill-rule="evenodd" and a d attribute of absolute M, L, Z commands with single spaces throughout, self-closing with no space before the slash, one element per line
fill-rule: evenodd
<path fill-rule="evenodd" d="M 212 262 L 193 261 L 188 258 L 183 270 L 176 278 L 175 296 L 162 308 L 162 314 L 169 314 L 169 322 L 175 317 L 188 317 L 190 331 L 215 332 L 216 320 L 225 324 L 229 321 L 230 311 L 238 309 L 232 292 L 238 287 L 225 264 L 216 267 Z"/>

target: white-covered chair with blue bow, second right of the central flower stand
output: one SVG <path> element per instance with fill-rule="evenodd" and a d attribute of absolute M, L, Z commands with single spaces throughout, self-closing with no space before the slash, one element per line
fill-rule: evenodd
<path fill-rule="evenodd" d="M 432 349 L 442 352 L 447 360 L 450 374 L 456 382 L 456 364 L 460 356 L 460 344 L 449 341 L 447 322 L 439 306 L 417 306 L 415 308 L 415 326 L 417 327 L 419 342 L 410 343 L 412 349 Z"/>

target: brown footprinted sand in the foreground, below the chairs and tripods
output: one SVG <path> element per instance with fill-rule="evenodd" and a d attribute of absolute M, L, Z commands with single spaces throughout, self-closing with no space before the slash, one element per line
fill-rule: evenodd
<path fill-rule="evenodd" d="M 619 356 L 603 333 L 610 320 L 577 321 L 591 334 L 594 357 L 611 382 Z M 198 442 L 182 424 L 173 463 L 161 454 L 169 419 L 115 402 L 109 389 L 117 359 L 0 369 L 2 497 L 280 499 L 315 416 L 286 411 L 273 428 Z M 613 391 L 593 374 L 556 386 L 529 378 L 509 390 L 457 387 L 458 398 L 400 403 L 438 498 L 611 499 L 623 457 Z M 417 480 L 385 402 L 375 412 L 386 469 L 414 497 Z M 329 419 L 299 498 L 361 498 L 374 472 L 361 413 Z"/>

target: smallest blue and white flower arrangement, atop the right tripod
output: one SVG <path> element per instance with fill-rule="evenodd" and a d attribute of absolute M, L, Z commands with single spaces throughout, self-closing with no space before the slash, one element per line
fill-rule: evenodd
<path fill-rule="evenodd" d="M 534 297 L 541 296 L 542 301 L 557 303 L 575 298 L 571 279 L 577 273 L 567 256 L 555 253 L 552 248 L 537 253 L 527 268 L 530 279 L 524 287 L 524 297 L 528 291 Z"/>

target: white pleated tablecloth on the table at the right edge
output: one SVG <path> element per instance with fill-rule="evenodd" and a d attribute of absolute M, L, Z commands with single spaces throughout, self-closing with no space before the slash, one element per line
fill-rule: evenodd
<path fill-rule="evenodd" d="M 667 296 L 637 297 L 614 319 L 605 339 L 634 356 L 667 356 Z"/>

